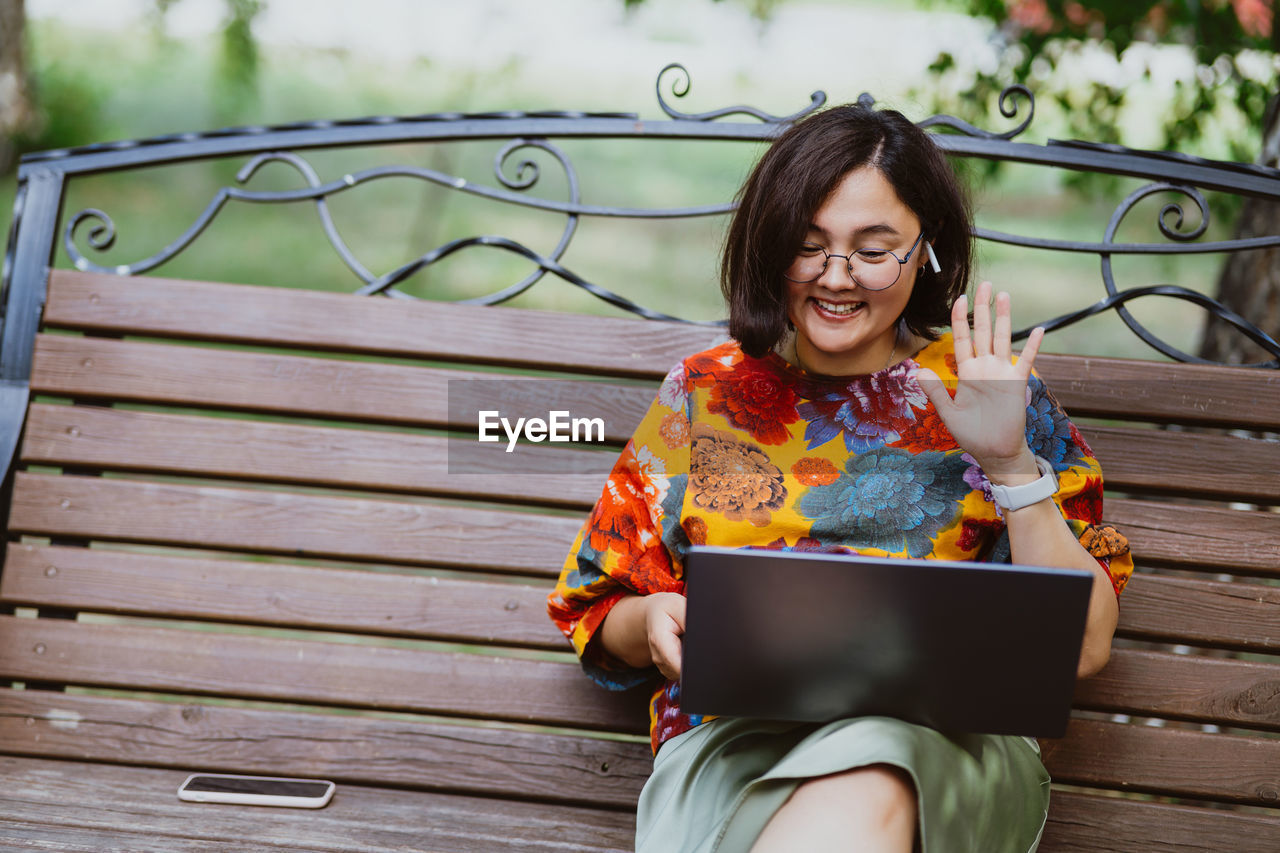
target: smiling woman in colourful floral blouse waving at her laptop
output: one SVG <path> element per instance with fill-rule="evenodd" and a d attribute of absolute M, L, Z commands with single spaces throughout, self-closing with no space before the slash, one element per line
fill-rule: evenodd
<path fill-rule="evenodd" d="M 1009 296 L 992 318 L 986 282 L 970 328 L 970 234 L 945 156 L 892 110 L 800 122 L 744 187 L 722 277 L 733 341 L 667 377 L 549 601 L 595 680 L 664 679 L 637 849 L 1038 844 L 1048 776 L 1029 738 L 680 710 L 690 544 L 1085 569 L 1079 675 L 1106 663 L 1128 546 L 1096 526 L 1101 469 L 1032 374 L 1043 330 L 1015 361 Z"/>

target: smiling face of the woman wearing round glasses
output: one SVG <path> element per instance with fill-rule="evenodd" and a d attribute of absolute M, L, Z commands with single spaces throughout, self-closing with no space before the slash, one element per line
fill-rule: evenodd
<path fill-rule="evenodd" d="M 831 255 L 859 250 L 888 250 L 905 257 L 920 234 L 920 220 L 902 204 L 893 187 L 872 167 L 841 178 L 809 224 L 805 241 Z M 813 282 L 786 280 L 787 314 L 796 329 L 796 352 L 813 373 L 851 375 L 886 366 L 897 334 L 897 319 L 915 287 L 925 257 L 923 241 L 891 287 L 868 291 L 855 283 L 847 265 L 832 257 Z M 887 257 L 887 264 L 897 261 Z M 854 260 L 858 274 L 860 261 Z M 905 355 L 899 352 L 895 359 Z"/>

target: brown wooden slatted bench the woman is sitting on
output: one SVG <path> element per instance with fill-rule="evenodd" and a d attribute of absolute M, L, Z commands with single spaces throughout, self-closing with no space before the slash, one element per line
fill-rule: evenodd
<path fill-rule="evenodd" d="M 696 123 L 466 124 L 364 127 L 623 137 Z M 291 150 L 333 145 L 332 131 L 291 131 Z M 252 136 L 114 154 L 282 145 Z M 996 143 L 1024 145 L 973 141 Z M 61 211 L 37 191 L 61 192 L 83 164 L 119 168 L 108 154 L 23 165 L 6 263 L 4 394 L 29 403 L 8 428 L 22 434 L 4 491 L 0 847 L 630 849 L 645 699 L 595 688 L 545 615 L 600 455 L 547 446 L 573 473 L 475 473 L 475 423 L 451 407 L 471 386 L 451 383 L 506 377 L 504 414 L 602 415 L 616 450 L 668 368 L 721 330 L 50 270 Z M 1280 371 L 1038 365 L 1102 460 L 1106 517 L 1139 565 L 1111 663 L 1080 684 L 1068 736 L 1044 743 L 1057 788 L 1041 849 L 1280 849 L 1280 443 L 1266 437 Z M 319 776 L 338 793 L 319 812 L 179 802 L 197 770 Z"/>

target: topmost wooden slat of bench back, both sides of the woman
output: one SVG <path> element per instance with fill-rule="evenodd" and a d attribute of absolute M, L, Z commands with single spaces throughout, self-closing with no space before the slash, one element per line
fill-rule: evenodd
<path fill-rule="evenodd" d="M 68 270 L 52 273 L 45 318 L 51 325 L 116 333 L 287 342 L 553 369 L 573 364 L 652 378 L 721 337 L 718 329 L 648 320 Z M 579 341 L 581 352 L 572 348 Z M 1187 416 L 1185 423 L 1206 425 L 1280 428 L 1280 371 L 1052 353 L 1041 355 L 1036 365 L 1068 411 L 1079 415 L 1175 421 Z"/>

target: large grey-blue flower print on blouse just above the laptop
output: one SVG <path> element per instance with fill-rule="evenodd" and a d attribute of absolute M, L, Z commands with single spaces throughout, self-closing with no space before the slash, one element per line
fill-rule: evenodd
<path fill-rule="evenodd" d="M 808 489 L 799 511 L 822 542 L 924 557 L 960 512 L 966 467 L 960 453 L 881 448 L 850 457 L 833 483 Z"/>

